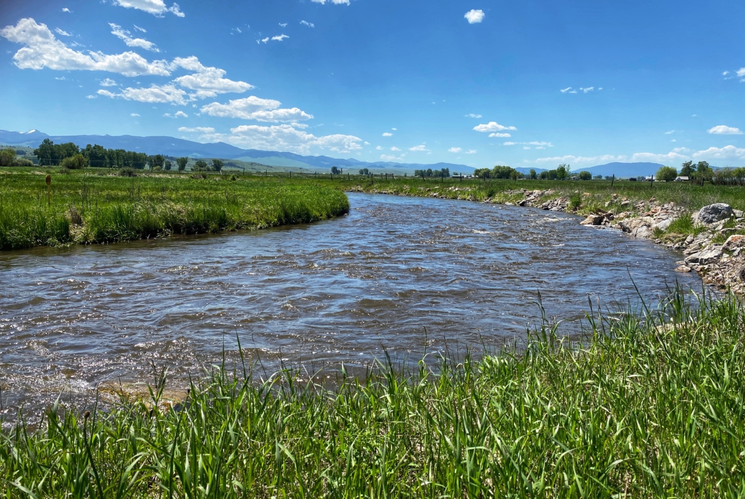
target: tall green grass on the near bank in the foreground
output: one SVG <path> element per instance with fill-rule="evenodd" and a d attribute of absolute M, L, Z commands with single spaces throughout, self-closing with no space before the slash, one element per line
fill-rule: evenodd
<path fill-rule="evenodd" d="M 0 440 L 3 497 L 742 497 L 745 311 L 695 305 L 332 391 L 218 371 L 178 411 L 53 408 Z"/>

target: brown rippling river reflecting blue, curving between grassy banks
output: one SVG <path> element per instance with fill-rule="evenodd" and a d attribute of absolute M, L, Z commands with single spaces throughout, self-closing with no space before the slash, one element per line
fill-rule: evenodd
<path fill-rule="evenodd" d="M 654 301 L 681 255 L 536 208 L 349 194 L 312 225 L 0 254 L 3 410 L 101 383 L 200 376 L 235 358 L 366 366 L 385 351 L 498 346 L 549 316 L 578 332 L 603 308 Z M 633 283 L 630 277 L 633 277 Z M 573 322 L 574 321 L 574 322 Z M 425 332 L 426 329 L 426 332 Z"/>

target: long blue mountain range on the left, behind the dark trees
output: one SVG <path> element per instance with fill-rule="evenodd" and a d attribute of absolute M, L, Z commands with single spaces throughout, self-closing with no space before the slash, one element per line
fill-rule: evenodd
<path fill-rule="evenodd" d="M 239 161 L 268 164 L 276 167 L 305 168 L 307 170 L 329 170 L 332 166 L 340 168 L 369 168 L 375 170 L 421 170 L 449 168 L 451 173 L 472 173 L 473 167 L 465 164 L 437 163 L 396 163 L 393 161 L 358 161 L 354 158 L 340 159 L 330 156 L 303 156 L 294 152 L 261 151 L 241 149 L 240 147 L 215 142 L 201 144 L 182 138 L 167 136 L 137 137 L 135 135 L 47 135 L 38 130 L 28 132 L 8 132 L 0 130 L 0 144 L 9 146 L 37 147 L 45 138 L 55 143 L 74 142 L 80 147 L 98 144 L 107 149 L 127 149 L 168 156 L 189 156 L 191 158 L 223 158 Z"/>

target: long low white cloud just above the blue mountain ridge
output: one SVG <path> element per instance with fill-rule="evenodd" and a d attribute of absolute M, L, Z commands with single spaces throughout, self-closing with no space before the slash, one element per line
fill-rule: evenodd
<path fill-rule="evenodd" d="M 329 149 L 333 152 L 352 152 L 362 149 L 362 139 L 354 135 L 325 135 L 317 137 L 288 124 L 241 125 L 230 129 L 230 134 L 206 132 L 201 138 L 221 141 L 248 149 L 269 149 L 307 154 L 312 148 Z"/>

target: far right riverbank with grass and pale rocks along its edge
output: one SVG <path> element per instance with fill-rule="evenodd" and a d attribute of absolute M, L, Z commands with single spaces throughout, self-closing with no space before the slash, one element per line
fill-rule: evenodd
<path fill-rule="evenodd" d="M 656 187 L 654 187 L 656 185 Z M 524 186 L 524 187 L 523 187 Z M 549 188 L 545 188 L 550 186 Z M 522 187 L 522 188 L 521 188 Z M 539 187 L 539 188 L 533 188 Z M 586 216 L 581 225 L 614 228 L 630 236 L 682 250 L 677 271 L 696 271 L 704 282 L 745 294 L 745 190 L 705 186 L 609 181 L 373 181 L 353 192 L 427 196 L 539 207 Z M 711 205 L 726 207 L 700 217 Z"/>

